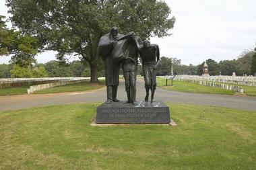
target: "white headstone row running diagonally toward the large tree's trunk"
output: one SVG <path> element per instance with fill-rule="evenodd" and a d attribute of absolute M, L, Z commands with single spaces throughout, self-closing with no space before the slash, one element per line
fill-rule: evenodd
<path fill-rule="evenodd" d="M 73 84 L 73 83 L 81 83 L 81 82 L 88 81 L 88 80 L 89 80 L 88 78 L 63 79 L 63 80 L 60 80 L 60 81 L 54 82 L 54 83 L 46 83 L 46 84 L 42 84 L 42 85 L 32 85 L 28 89 L 28 94 L 31 94 L 34 91 L 38 91 L 38 90 L 42 90 L 42 89 L 49 89 L 51 87 L 57 87 L 57 86 L 61 86 L 61 85 L 69 85 L 69 84 Z"/>

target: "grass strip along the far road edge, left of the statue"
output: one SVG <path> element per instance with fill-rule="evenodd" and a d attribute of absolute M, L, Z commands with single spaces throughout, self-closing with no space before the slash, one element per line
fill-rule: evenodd
<path fill-rule="evenodd" d="M 100 80 L 100 83 L 90 83 L 89 81 L 82 83 L 74 83 L 70 85 L 57 86 L 49 89 L 42 89 L 35 91 L 33 94 L 46 94 L 46 93 L 65 93 L 75 91 L 88 91 L 93 89 L 99 89 L 104 87 L 104 80 Z M 7 89 L 0 89 L 1 95 L 21 95 L 26 94 L 29 87 L 12 87 Z"/>

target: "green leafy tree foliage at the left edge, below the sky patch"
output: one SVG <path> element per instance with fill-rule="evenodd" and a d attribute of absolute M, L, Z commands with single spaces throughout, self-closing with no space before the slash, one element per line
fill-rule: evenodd
<path fill-rule="evenodd" d="M 11 62 L 20 67 L 32 66 L 36 62 L 38 41 L 36 38 L 14 29 L 8 30 L 5 17 L 0 15 L 0 55 L 11 55 Z"/>

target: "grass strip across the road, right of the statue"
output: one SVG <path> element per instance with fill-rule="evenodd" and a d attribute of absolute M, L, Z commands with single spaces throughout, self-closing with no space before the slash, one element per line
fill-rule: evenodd
<path fill-rule="evenodd" d="M 221 89 L 218 87 L 210 87 L 204 85 L 198 85 L 195 83 L 186 83 L 185 81 L 173 81 L 173 86 L 170 86 L 171 80 L 168 79 L 168 86 L 166 86 L 166 79 L 157 78 L 157 85 L 164 89 L 172 91 L 184 91 L 191 93 L 211 93 L 211 94 L 225 94 L 234 95 L 235 91 Z"/>

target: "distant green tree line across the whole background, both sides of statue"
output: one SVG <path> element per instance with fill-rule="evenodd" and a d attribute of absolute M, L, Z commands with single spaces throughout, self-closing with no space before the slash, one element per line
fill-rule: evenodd
<path fill-rule="evenodd" d="M 216 62 L 209 58 L 206 60 L 210 75 L 232 75 L 238 76 L 253 75 L 256 73 L 256 48 L 246 50 L 237 59 L 221 60 Z M 170 75 L 173 66 L 174 75 L 201 75 L 203 62 L 201 65 L 182 65 L 181 59 L 162 56 L 160 65 L 156 70 L 157 75 Z M 74 60 L 64 63 L 59 60 L 51 60 L 44 64 L 34 64 L 32 66 L 20 67 L 15 62 L 9 65 L 0 65 L 0 78 L 9 77 L 90 77 L 90 65 L 82 60 Z M 121 70 L 122 75 L 122 70 Z M 143 75 L 142 66 L 137 66 L 137 75 Z M 98 67 L 97 77 L 104 77 L 103 67 Z"/>

